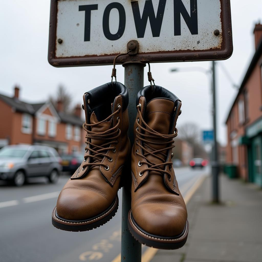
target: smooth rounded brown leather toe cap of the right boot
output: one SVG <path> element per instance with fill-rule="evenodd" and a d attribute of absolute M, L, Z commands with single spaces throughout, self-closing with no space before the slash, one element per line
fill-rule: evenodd
<path fill-rule="evenodd" d="M 156 236 L 178 236 L 187 223 L 187 211 L 178 205 L 143 204 L 132 214 L 144 231 Z"/>

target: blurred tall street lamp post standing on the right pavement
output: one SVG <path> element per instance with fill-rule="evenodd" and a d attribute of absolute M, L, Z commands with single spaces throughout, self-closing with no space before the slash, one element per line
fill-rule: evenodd
<path fill-rule="evenodd" d="M 217 139 L 216 139 L 216 71 L 215 71 L 215 61 L 212 61 L 212 70 L 206 70 L 203 67 L 190 67 L 184 68 L 188 69 L 187 71 L 199 71 L 204 74 L 212 73 L 212 96 L 213 96 L 213 132 L 214 132 L 214 141 L 213 141 L 213 159 L 212 159 L 212 202 L 219 203 L 219 160 L 218 160 L 218 152 L 217 152 Z M 181 68 L 173 68 L 171 72 L 179 72 Z"/>

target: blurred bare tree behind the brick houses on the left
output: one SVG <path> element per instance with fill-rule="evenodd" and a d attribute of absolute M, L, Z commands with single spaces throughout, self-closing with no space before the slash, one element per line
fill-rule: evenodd
<path fill-rule="evenodd" d="M 65 113 L 71 113 L 71 103 L 72 103 L 72 96 L 67 92 L 63 85 L 59 85 L 57 88 L 56 95 L 50 96 L 49 99 L 52 104 L 57 108 L 57 101 L 61 101 L 63 103 L 63 111 Z"/>

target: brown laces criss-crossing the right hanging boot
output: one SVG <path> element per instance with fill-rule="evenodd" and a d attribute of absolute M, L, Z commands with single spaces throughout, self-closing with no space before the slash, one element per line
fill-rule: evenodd
<path fill-rule="evenodd" d="M 143 123 L 145 125 L 145 127 L 147 128 L 144 128 L 142 125 L 139 124 L 139 120 L 136 119 L 136 123 L 138 125 L 138 127 L 140 128 L 140 130 L 144 130 L 145 132 L 148 132 L 149 134 L 145 134 L 145 133 L 141 133 L 138 131 L 138 128 L 135 129 L 135 132 L 136 132 L 136 135 L 135 137 L 138 138 L 138 140 L 140 141 L 143 141 L 144 142 L 144 146 L 140 143 L 138 143 L 138 140 L 136 140 L 136 144 L 141 148 L 143 149 L 144 151 L 144 154 L 140 154 L 139 151 L 137 150 L 136 151 L 136 154 L 138 156 L 141 156 L 143 157 L 144 159 L 146 159 L 146 161 L 140 161 L 140 165 L 141 164 L 147 164 L 148 167 L 141 170 L 141 172 L 139 173 L 139 176 L 143 176 L 143 173 L 145 171 L 156 171 L 156 172 L 160 172 L 161 174 L 168 174 L 168 178 L 170 179 L 170 174 L 161 169 L 160 167 L 161 166 L 165 166 L 165 165 L 169 165 L 169 168 L 171 170 L 172 168 L 172 165 L 173 163 L 172 162 L 166 162 L 166 158 L 167 158 L 167 155 L 163 153 L 163 151 L 165 150 L 171 150 L 172 148 L 175 147 L 175 145 L 173 145 L 174 143 L 174 140 L 173 138 L 175 138 L 177 136 L 177 128 L 175 128 L 175 132 L 174 134 L 160 134 L 158 133 L 156 130 L 152 129 L 151 127 L 149 127 L 148 124 L 146 124 L 146 122 L 144 121 L 143 117 L 142 117 L 142 114 L 141 114 L 141 111 L 140 111 L 140 105 L 137 106 L 137 111 L 138 111 L 138 114 L 139 114 L 139 119 L 141 120 L 141 123 Z M 163 145 L 163 144 L 166 144 L 166 145 L 170 145 L 168 147 L 165 147 L 165 148 L 162 148 L 162 149 L 155 149 L 153 148 L 152 146 L 148 145 L 148 143 L 150 144 L 155 144 L 155 145 Z M 147 148 L 150 148 L 152 151 L 149 151 Z M 156 153 L 159 153 L 161 156 L 158 156 L 156 155 Z M 159 160 L 161 160 L 163 163 L 160 163 L 160 164 L 155 164 L 154 162 L 150 161 L 146 156 L 148 155 L 151 155 L 151 156 L 154 156 L 156 158 L 158 158 Z"/>

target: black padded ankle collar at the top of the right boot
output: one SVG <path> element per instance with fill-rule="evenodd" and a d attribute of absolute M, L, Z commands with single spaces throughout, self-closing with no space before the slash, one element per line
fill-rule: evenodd
<path fill-rule="evenodd" d="M 161 97 L 174 101 L 175 105 L 177 101 L 180 101 L 177 96 L 159 85 L 148 85 L 141 89 L 137 94 L 137 105 L 141 96 L 145 97 L 146 103 L 150 102 L 152 99 Z"/>

